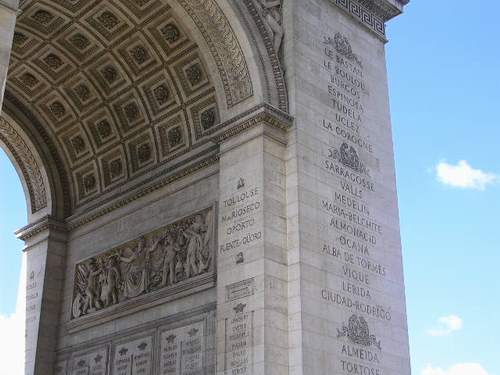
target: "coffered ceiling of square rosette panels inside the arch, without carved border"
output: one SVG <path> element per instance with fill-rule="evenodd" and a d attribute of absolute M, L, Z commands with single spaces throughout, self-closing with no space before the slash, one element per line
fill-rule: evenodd
<path fill-rule="evenodd" d="M 78 207 L 206 142 L 207 72 L 163 1 L 28 0 L 7 89 L 58 145 Z"/>

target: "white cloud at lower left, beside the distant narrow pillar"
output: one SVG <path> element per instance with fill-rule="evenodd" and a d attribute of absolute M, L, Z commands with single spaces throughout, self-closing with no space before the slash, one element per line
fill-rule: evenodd
<path fill-rule="evenodd" d="M 26 316 L 26 258 L 23 255 L 16 311 L 0 314 L 0 375 L 24 374 L 24 325 Z"/>

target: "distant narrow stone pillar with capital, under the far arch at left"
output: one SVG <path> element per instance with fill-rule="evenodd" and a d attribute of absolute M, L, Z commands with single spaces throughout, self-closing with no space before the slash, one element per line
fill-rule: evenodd
<path fill-rule="evenodd" d="M 26 375 L 53 374 L 61 309 L 66 233 L 51 218 L 17 233 L 25 241 L 26 280 Z"/>

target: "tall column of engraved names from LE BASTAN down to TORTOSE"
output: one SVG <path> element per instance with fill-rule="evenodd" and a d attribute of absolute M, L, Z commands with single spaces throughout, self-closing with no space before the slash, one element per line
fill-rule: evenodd
<path fill-rule="evenodd" d="M 336 368 L 343 374 L 383 374 L 382 343 L 371 327 L 390 329 L 393 314 L 381 293 L 388 270 L 380 260 L 385 228 L 373 207 L 380 190 L 380 166 L 374 162 L 378 150 L 366 121 L 369 80 L 361 58 L 340 32 L 323 37 L 322 65 L 328 75 L 330 112 L 319 125 L 330 136 L 318 156 L 332 191 L 318 197 L 321 252 L 333 261 L 331 270 L 340 277 L 337 285 L 321 290 L 321 298 L 350 314 L 337 328 Z"/>

